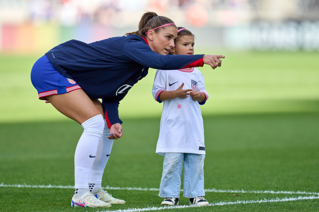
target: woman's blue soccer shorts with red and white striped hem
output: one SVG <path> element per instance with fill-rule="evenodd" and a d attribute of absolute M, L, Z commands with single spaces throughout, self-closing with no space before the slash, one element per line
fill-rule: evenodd
<path fill-rule="evenodd" d="M 39 99 L 46 100 L 47 103 L 49 101 L 45 98 L 46 96 L 81 89 L 74 80 L 60 74 L 46 55 L 34 63 L 31 70 L 31 82 L 38 91 Z"/>

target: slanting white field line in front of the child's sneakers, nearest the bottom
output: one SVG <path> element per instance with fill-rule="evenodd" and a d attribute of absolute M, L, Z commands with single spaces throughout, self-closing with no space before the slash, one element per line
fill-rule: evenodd
<path fill-rule="evenodd" d="M 235 205 L 235 204 L 249 204 L 249 203 L 265 203 L 265 202 L 288 202 L 297 200 L 312 200 L 319 199 L 319 196 L 299 196 L 299 197 L 285 197 L 279 199 L 263 199 L 263 200 L 248 200 L 248 201 L 236 201 L 236 202 L 216 202 L 211 203 L 207 206 L 223 206 L 223 205 Z M 207 207 L 207 206 L 194 206 L 194 205 L 179 205 L 179 206 L 165 206 L 165 207 L 150 207 L 150 208 L 134 208 L 134 209 L 124 209 L 124 210 L 103 210 L 101 212 L 138 212 L 138 211 L 152 211 L 152 210 L 165 210 L 165 209 L 182 209 L 182 208 L 194 208 L 194 207 Z"/>

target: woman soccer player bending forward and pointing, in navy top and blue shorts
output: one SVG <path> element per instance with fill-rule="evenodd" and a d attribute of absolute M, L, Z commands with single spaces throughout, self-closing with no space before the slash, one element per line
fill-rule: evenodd
<path fill-rule="evenodd" d="M 39 99 L 50 102 L 84 128 L 74 156 L 73 207 L 125 203 L 101 189 L 102 175 L 113 140 L 123 134 L 119 101 L 147 75 L 149 67 L 177 69 L 208 64 L 215 69 L 221 65 L 221 55 L 168 55 L 176 37 L 172 20 L 146 12 L 135 32 L 90 44 L 70 40 L 33 65 L 31 81 Z"/>

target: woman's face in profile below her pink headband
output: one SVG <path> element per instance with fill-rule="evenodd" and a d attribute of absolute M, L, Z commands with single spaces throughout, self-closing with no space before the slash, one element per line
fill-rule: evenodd
<path fill-rule="evenodd" d="M 146 36 L 152 51 L 161 55 L 167 55 L 171 51 L 175 46 L 175 38 L 177 38 L 177 29 L 174 25 L 165 26 L 158 33 L 149 30 Z"/>

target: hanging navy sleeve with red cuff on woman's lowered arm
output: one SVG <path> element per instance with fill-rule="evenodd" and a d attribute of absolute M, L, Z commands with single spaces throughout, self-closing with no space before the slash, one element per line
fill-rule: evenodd
<path fill-rule="evenodd" d="M 102 99 L 103 112 L 109 129 L 115 123 L 123 123 L 119 118 L 118 106 L 119 101 L 116 98 Z"/>

